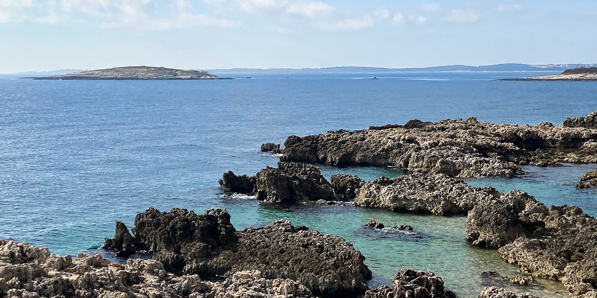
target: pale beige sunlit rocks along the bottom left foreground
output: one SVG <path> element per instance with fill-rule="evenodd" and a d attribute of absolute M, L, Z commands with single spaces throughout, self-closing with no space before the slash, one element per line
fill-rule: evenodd
<path fill-rule="evenodd" d="M 156 260 L 111 263 L 99 254 L 50 254 L 48 249 L 0 240 L 0 296 L 37 297 L 313 297 L 292 280 L 267 280 L 259 271 L 236 272 L 221 283 L 198 275 L 176 276 Z"/>

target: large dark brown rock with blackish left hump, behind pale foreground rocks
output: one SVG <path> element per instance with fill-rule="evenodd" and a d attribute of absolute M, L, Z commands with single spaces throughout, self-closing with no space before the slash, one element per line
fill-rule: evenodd
<path fill-rule="evenodd" d="M 120 229 L 116 236 L 129 238 Z M 185 274 L 231 276 L 257 269 L 267 280 L 289 278 L 313 294 L 334 297 L 362 294 L 371 279 L 365 257 L 352 244 L 288 221 L 235 231 L 225 210 L 197 215 L 186 209 L 150 208 L 136 216 L 132 231 L 135 250 Z M 106 240 L 106 248 L 124 250 L 114 245 L 125 243 L 124 238 Z"/>

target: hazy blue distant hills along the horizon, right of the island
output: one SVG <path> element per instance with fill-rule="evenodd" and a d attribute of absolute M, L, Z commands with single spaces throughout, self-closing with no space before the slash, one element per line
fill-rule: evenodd
<path fill-rule="evenodd" d="M 554 72 L 578 67 L 593 67 L 597 64 L 544 64 L 531 65 L 519 63 L 495 64 L 487 66 L 435 66 L 409 69 L 387 69 L 383 67 L 326 67 L 321 69 L 211 69 L 210 73 L 389 73 L 389 72 Z"/>

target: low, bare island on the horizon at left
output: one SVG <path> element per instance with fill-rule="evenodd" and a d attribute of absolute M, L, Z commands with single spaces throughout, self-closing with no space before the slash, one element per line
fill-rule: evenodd
<path fill-rule="evenodd" d="M 113 69 L 88 70 L 61 76 L 33 77 L 36 80 L 222 80 L 199 70 L 167 69 L 165 67 L 127 66 Z"/>

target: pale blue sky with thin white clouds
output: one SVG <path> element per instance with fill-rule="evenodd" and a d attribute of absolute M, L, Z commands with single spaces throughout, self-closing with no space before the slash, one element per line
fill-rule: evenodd
<path fill-rule="evenodd" d="M 0 0 L 0 73 L 597 63 L 597 1 Z"/>

